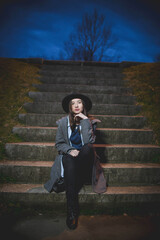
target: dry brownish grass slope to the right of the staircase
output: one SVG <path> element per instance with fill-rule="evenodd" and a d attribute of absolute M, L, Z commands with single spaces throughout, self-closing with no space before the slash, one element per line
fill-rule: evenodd
<path fill-rule="evenodd" d="M 141 114 L 155 133 L 160 145 L 160 63 L 143 63 L 124 69 L 126 85 L 133 89 L 142 106 Z"/>

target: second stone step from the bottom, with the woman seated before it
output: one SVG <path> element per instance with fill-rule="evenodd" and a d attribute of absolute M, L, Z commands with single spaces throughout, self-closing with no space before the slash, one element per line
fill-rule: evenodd
<path fill-rule="evenodd" d="M 3 161 L 0 170 L 16 183 L 45 183 L 52 162 Z M 160 185 L 160 164 L 102 164 L 108 186 Z"/>

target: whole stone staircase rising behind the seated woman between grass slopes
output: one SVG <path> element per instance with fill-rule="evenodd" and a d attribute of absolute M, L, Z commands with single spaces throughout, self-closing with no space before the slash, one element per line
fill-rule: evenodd
<path fill-rule="evenodd" d="M 57 154 L 54 148 L 56 121 L 64 116 L 61 100 L 71 92 L 90 97 L 90 114 L 101 120 L 96 151 L 107 179 L 104 194 L 85 186 L 79 194 L 81 209 L 106 214 L 157 214 L 160 203 L 160 147 L 146 126 L 141 107 L 125 86 L 119 63 L 44 61 L 39 91 L 29 92 L 20 114 L 23 126 L 13 132 L 20 143 L 6 144 L 7 160 L 0 162 L 2 176 L 12 179 L 1 185 L 1 202 L 26 207 L 64 209 L 65 193 L 49 194 L 43 184 Z"/>

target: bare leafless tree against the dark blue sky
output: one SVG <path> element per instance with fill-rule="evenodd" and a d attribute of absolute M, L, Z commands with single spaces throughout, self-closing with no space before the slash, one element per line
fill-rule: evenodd
<path fill-rule="evenodd" d="M 105 52 L 116 41 L 111 26 L 105 26 L 104 15 L 97 11 L 90 16 L 86 13 L 82 22 L 75 26 L 74 32 L 64 43 L 64 50 L 70 60 L 102 61 Z"/>

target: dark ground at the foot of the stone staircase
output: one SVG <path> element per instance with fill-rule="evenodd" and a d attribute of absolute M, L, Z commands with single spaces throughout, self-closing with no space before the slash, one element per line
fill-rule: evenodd
<path fill-rule="evenodd" d="M 160 216 L 81 215 L 74 231 L 67 229 L 65 220 L 65 213 L 3 209 L 1 236 L 3 240 L 158 240 L 160 236 Z"/>

